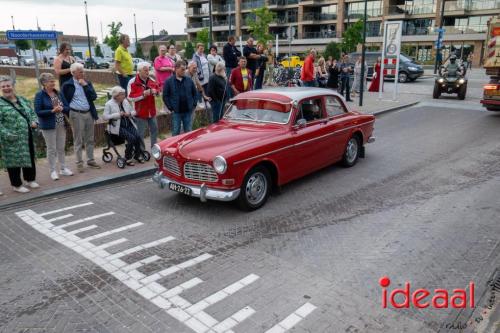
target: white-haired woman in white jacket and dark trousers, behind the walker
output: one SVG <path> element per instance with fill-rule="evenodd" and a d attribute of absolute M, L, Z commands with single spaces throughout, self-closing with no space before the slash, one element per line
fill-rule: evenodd
<path fill-rule="evenodd" d="M 111 97 L 104 106 L 102 116 L 104 120 L 109 121 L 108 132 L 127 141 L 125 159 L 128 165 L 134 165 L 132 158 L 135 158 L 139 163 L 144 163 L 141 157 L 141 138 L 133 120 L 136 112 L 126 99 L 125 89 L 120 86 L 113 87 Z"/>

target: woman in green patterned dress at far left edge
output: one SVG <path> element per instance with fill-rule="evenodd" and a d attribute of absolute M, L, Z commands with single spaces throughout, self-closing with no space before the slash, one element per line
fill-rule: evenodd
<path fill-rule="evenodd" d="M 37 116 L 31 103 L 17 96 L 14 83 L 9 76 L 0 77 L 0 158 L 9 174 L 14 191 L 27 193 L 23 178 L 28 187 L 38 188 L 35 182 L 35 146 L 33 130 L 37 128 Z"/>

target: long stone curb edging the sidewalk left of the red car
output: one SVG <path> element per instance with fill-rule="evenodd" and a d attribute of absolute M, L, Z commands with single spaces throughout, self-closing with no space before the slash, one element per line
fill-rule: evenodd
<path fill-rule="evenodd" d="M 100 187 L 100 186 L 104 186 L 104 185 L 114 184 L 114 183 L 118 183 L 118 182 L 121 182 L 124 180 L 131 180 L 131 179 L 137 179 L 137 178 L 142 178 L 142 177 L 146 177 L 146 176 L 152 176 L 153 172 L 155 170 L 156 170 L 156 167 L 151 166 L 151 167 L 147 167 L 147 168 L 140 169 L 140 170 L 131 170 L 131 171 L 124 172 L 124 173 L 121 173 L 121 174 L 116 175 L 116 176 L 101 176 L 101 177 L 93 178 L 92 180 L 86 180 L 86 181 L 76 183 L 76 184 L 66 185 L 66 186 L 53 188 L 53 189 L 48 189 L 48 190 L 45 190 L 42 192 L 38 192 L 36 195 L 27 197 L 25 199 L 10 200 L 10 201 L 6 201 L 6 202 L 2 202 L 0 204 L 0 210 L 13 208 L 13 207 L 21 205 L 21 204 L 29 203 L 30 201 L 40 200 L 42 198 L 50 197 L 53 195 L 76 192 L 76 191 L 81 191 L 81 190 L 85 190 L 85 189 L 91 189 L 94 187 Z"/>

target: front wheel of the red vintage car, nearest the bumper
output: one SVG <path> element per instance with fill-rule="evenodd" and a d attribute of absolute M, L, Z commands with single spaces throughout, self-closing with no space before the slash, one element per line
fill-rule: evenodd
<path fill-rule="evenodd" d="M 252 211 L 262 207 L 271 193 L 271 175 L 258 166 L 248 172 L 241 185 L 238 203 L 241 209 Z"/>

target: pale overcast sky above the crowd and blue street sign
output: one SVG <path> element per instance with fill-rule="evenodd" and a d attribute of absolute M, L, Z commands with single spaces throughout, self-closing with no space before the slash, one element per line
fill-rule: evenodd
<path fill-rule="evenodd" d="M 122 22 L 122 32 L 134 38 L 134 17 L 136 14 L 137 36 L 151 35 L 154 22 L 155 34 L 166 29 L 169 34 L 182 34 L 186 27 L 183 0 L 87 0 L 91 36 L 101 40 L 112 21 Z M 12 29 L 14 16 L 16 29 L 36 29 L 36 19 L 41 29 L 55 29 L 65 34 L 86 35 L 85 9 L 83 0 L 0 0 L 0 30 Z"/>

